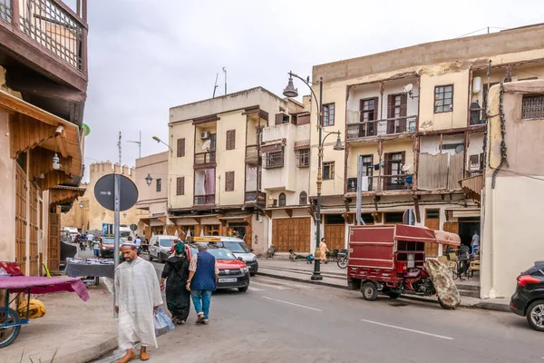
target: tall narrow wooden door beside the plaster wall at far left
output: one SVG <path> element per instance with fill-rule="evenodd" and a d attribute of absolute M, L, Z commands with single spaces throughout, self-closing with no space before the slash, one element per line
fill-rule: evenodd
<path fill-rule="evenodd" d="M 15 171 L 15 262 L 26 275 L 26 173 Z"/>

